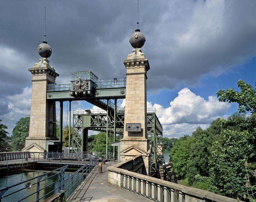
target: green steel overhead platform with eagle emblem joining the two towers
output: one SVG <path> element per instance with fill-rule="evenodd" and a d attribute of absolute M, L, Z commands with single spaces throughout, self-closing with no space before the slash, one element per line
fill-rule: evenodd
<path fill-rule="evenodd" d="M 92 105 L 106 110 L 107 100 L 124 99 L 126 78 L 99 80 L 92 71 L 72 72 L 71 81 L 67 84 L 47 85 L 46 99 L 51 101 L 85 100 Z M 109 110 L 114 104 L 108 102 Z"/>

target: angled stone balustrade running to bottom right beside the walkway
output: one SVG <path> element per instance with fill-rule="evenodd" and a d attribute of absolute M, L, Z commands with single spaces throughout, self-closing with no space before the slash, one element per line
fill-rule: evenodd
<path fill-rule="evenodd" d="M 107 168 L 108 183 L 159 202 L 236 202 L 210 191 L 187 187 L 137 173 L 144 165 L 142 155 Z M 138 169 L 139 168 L 139 169 Z"/>

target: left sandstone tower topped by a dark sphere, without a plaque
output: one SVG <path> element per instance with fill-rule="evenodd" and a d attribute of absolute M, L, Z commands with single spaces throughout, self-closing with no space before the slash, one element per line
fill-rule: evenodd
<path fill-rule="evenodd" d="M 29 135 L 23 150 L 43 152 L 44 150 L 48 151 L 49 145 L 56 147 L 58 142 L 56 138 L 55 102 L 46 100 L 46 90 L 47 84 L 55 83 L 55 78 L 59 74 L 55 72 L 47 60 L 52 54 L 52 49 L 47 42 L 43 41 L 37 50 L 43 58 L 40 58 L 39 62 L 35 63 L 31 69 L 28 69 L 32 74 L 32 98 Z"/>

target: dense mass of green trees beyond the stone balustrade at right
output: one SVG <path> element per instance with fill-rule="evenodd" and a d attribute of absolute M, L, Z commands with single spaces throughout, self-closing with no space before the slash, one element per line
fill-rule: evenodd
<path fill-rule="evenodd" d="M 188 185 L 241 198 L 246 194 L 244 162 L 250 162 L 251 170 L 256 168 L 255 123 L 255 114 L 235 113 L 181 137 L 171 152 L 174 172 Z M 251 186 L 255 185 L 252 180 Z"/>

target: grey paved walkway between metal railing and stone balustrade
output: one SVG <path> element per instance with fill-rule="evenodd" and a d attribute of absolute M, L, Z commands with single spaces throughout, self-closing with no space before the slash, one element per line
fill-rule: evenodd
<path fill-rule="evenodd" d="M 116 164 L 116 162 L 106 162 L 102 165 L 102 172 L 98 173 L 98 168 L 93 170 L 90 175 L 77 187 L 68 201 L 78 202 L 146 202 L 152 201 L 148 198 L 118 188 L 112 184 L 108 184 L 107 167 Z"/>

